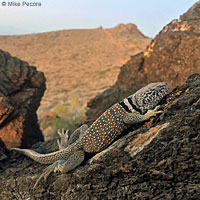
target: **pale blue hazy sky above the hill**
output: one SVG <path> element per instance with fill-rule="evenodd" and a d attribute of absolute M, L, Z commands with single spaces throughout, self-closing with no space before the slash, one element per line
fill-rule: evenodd
<path fill-rule="evenodd" d="M 28 6 L 30 2 L 37 2 L 38 6 Z M 154 37 L 163 26 L 178 19 L 196 2 L 197 0 L 0 0 L 0 34 L 99 26 L 110 28 L 121 23 L 134 23 L 143 34 Z"/>

